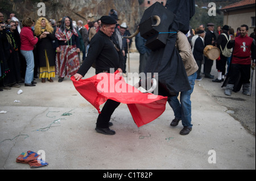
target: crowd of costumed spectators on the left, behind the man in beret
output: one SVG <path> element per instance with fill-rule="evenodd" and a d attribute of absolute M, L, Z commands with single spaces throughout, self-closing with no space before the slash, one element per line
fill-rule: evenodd
<path fill-rule="evenodd" d="M 113 9 L 109 16 L 118 20 L 117 11 Z M 36 78 L 46 83 L 53 82 L 52 78 L 57 75 L 58 82 L 62 82 L 64 77 L 75 75 L 100 28 L 100 19 L 87 20 L 86 24 L 82 20 L 73 21 L 69 16 L 58 21 L 44 17 L 19 21 L 13 13 L 6 18 L 0 12 L 0 91 L 20 87 L 20 83 L 36 86 Z M 122 39 L 130 35 L 127 29 L 123 22 L 121 26 L 117 24 L 114 33 L 125 61 L 131 45 L 131 40 Z"/>

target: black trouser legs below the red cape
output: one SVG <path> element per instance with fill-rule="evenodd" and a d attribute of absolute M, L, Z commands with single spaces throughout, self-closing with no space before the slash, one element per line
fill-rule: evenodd
<path fill-rule="evenodd" d="M 112 116 L 115 109 L 119 106 L 119 104 L 119 102 L 115 102 L 111 99 L 106 101 L 100 115 L 98 115 L 96 124 L 98 128 L 109 128 L 110 117 Z"/>

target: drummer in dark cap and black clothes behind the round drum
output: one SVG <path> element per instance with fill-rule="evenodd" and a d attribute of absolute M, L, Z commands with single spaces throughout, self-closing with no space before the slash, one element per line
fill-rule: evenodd
<path fill-rule="evenodd" d="M 216 36 L 214 34 L 214 24 L 208 23 L 207 28 L 208 28 L 208 31 L 205 34 L 204 45 L 205 47 L 207 45 L 215 46 Z M 209 58 L 205 57 L 204 58 L 204 77 L 205 78 L 214 78 L 214 76 L 210 74 L 210 71 L 212 71 L 212 65 L 213 65 L 213 60 L 210 60 Z"/>

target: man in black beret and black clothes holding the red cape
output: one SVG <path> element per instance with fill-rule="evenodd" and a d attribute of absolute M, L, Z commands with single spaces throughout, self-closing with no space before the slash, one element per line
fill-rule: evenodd
<path fill-rule="evenodd" d="M 90 41 L 87 57 L 79 71 L 77 71 L 77 74 L 74 75 L 76 81 L 84 77 L 94 62 L 96 64 L 96 74 L 102 72 L 110 73 L 110 69 L 112 68 L 122 73 L 122 51 L 113 37 L 116 23 L 115 19 L 110 16 L 101 17 L 101 29 Z M 109 126 L 113 125 L 109 121 L 115 108 L 117 108 L 119 104 L 119 102 L 115 102 L 111 99 L 106 101 L 97 119 L 96 131 L 98 133 L 107 135 L 115 134 L 113 130 L 109 129 Z"/>

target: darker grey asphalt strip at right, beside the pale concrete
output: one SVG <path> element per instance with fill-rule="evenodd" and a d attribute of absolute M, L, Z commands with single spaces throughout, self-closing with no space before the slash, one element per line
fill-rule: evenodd
<path fill-rule="evenodd" d="M 212 67 L 212 75 L 215 75 L 214 79 L 217 78 L 216 61 L 214 61 Z M 208 78 L 197 82 L 197 85 L 203 87 L 208 92 L 208 95 L 212 96 L 217 103 L 228 108 L 227 112 L 230 116 L 240 121 L 243 127 L 255 136 L 255 71 L 251 96 L 243 95 L 242 89 L 240 92 L 232 92 L 232 96 L 226 96 L 224 94 L 225 87 L 221 87 L 222 83 L 212 82 L 212 79 Z"/>

